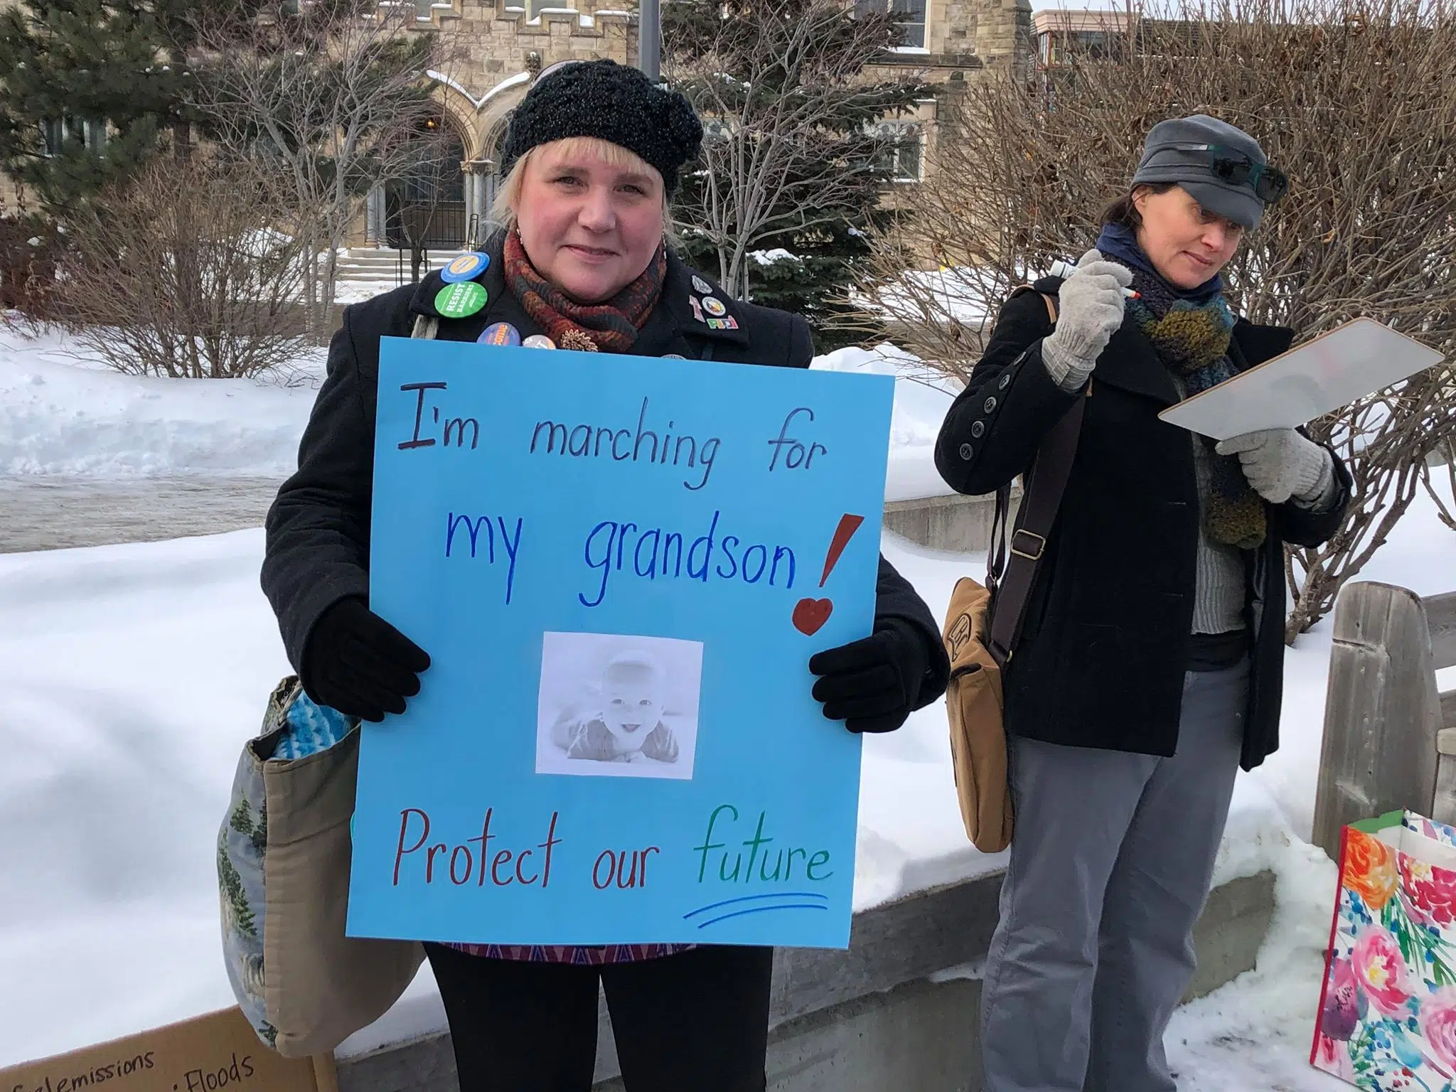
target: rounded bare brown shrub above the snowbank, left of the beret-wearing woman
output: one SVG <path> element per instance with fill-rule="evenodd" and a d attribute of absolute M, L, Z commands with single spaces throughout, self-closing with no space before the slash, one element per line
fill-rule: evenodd
<path fill-rule="evenodd" d="M 245 165 L 157 163 L 71 226 L 58 307 L 82 345 L 128 374 L 255 376 L 293 360 L 300 245 Z"/>

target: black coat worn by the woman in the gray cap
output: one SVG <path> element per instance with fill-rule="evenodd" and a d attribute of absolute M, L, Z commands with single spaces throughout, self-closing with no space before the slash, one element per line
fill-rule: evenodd
<path fill-rule="evenodd" d="M 1056 293 L 1045 278 L 1038 291 Z M 958 492 L 989 494 L 1025 472 L 1051 427 L 1082 395 L 1041 361 L 1051 333 L 1034 291 L 1000 310 L 986 352 L 945 416 L 935 463 Z M 1293 333 L 1233 328 L 1239 370 L 1284 352 Z M 1092 373 L 1066 494 L 1005 671 L 1006 728 L 1032 740 L 1171 756 L 1190 657 L 1200 507 L 1190 434 L 1158 419 L 1178 400 L 1172 377 L 1131 317 Z M 1334 453 L 1331 453 L 1334 454 Z M 1278 747 L 1284 665 L 1284 543 L 1316 546 L 1340 526 L 1350 475 L 1335 457 L 1340 499 L 1312 513 L 1265 505 L 1270 534 L 1243 552 L 1245 619 L 1254 632 L 1242 766 Z"/>

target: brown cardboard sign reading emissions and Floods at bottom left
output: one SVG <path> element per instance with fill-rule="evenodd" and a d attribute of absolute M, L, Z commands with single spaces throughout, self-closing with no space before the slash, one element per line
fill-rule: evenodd
<path fill-rule="evenodd" d="M 114 1042 L 0 1069 L 0 1092 L 338 1092 L 333 1060 L 284 1059 L 234 1006 Z"/>

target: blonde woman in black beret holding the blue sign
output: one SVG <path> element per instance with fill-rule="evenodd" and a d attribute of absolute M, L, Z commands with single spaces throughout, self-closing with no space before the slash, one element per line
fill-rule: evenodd
<path fill-rule="evenodd" d="M 732 300 L 667 245 L 668 198 L 697 154 L 687 100 L 633 68 L 581 61 L 543 71 L 502 149 L 505 230 L 479 252 L 345 310 L 298 472 L 268 515 L 262 584 L 290 660 L 320 705 L 380 721 L 430 686 L 430 657 L 368 607 L 370 486 L 381 336 L 808 367 L 808 323 Z M 604 357 L 603 367 L 612 361 Z M 652 693 L 657 665 L 625 657 L 603 687 Z M 891 731 L 935 700 L 948 671 L 935 620 L 884 559 L 874 633 L 810 661 L 814 697 L 849 731 Z M 613 690 L 614 692 L 614 690 Z M 641 699 L 644 703 L 646 697 Z M 610 718 L 607 718 L 610 719 Z M 565 718 L 577 759 L 623 756 L 612 725 Z M 676 759 L 671 732 L 633 750 Z M 764 1088 L 772 949 L 684 945 L 427 945 L 460 1086 L 591 1086 L 597 990 L 606 987 L 632 1092 Z"/>

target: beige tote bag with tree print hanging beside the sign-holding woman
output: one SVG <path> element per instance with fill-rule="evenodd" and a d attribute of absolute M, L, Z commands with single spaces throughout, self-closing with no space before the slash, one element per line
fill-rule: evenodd
<path fill-rule="evenodd" d="M 437 329 L 419 316 L 412 336 Z M 227 977 L 258 1037 L 290 1059 L 329 1053 L 383 1016 L 425 958 L 415 941 L 344 935 L 358 754 L 358 719 L 284 678 L 243 747 L 218 834 Z"/>

